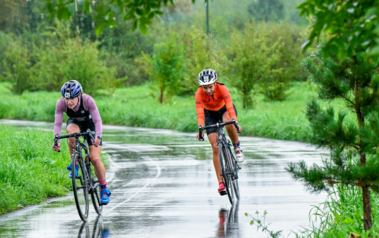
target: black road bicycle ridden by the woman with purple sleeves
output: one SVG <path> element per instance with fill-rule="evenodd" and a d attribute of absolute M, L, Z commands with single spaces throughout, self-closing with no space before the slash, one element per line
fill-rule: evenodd
<path fill-rule="evenodd" d="M 92 204 L 96 213 L 101 214 L 103 211 L 103 204 L 100 202 L 100 185 L 99 180 L 95 177 L 93 164 L 89 157 L 89 150 L 87 147 L 87 138 L 91 138 L 94 142 L 95 132 L 91 132 L 89 129 L 84 133 L 73 133 L 65 136 L 55 135 L 54 148 L 58 145 L 58 140 L 74 137 L 75 147 L 73 147 L 73 155 L 71 161 L 72 169 L 72 188 L 74 192 L 74 198 L 76 203 L 76 209 L 78 210 L 80 219 L 86 221 L 88 219 L 89 200 L 92 200 Z M 84 142 L 80 142 L 80 137 L 84 138 Z M 70 140 L 67 140 L 70 143 Z M 60 152 L 60 151 L 58 151 Z M 83 153 L 84 152 L 84 153 Z M 79 165 L 78 175 L 75 176 L 75 166 Z M 88 194 L 91 195 L 88 199 Z"/>

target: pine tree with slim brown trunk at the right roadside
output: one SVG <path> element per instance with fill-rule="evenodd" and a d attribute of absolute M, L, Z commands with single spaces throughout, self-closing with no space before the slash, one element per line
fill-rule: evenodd
<path fill-rule="evenodd" d="M 327 147 L 330 160 L 324 160 L 323 167 L 292 163 L 287 170 L 312 192 L 328 191 L 335 184 L 359 186 L 368 230 L 372 227 L 370 190 L 379 191 L 379 63 L 364 52 L 340 62 L 334 55 L 322 58 L 318 51 L 304 66 L 319 86 L 318 98 L 342 99 L 344 107 L 336 112 L 331 106 L 322 108 L 318 100 L 307 104 L 310 142 Z"/>

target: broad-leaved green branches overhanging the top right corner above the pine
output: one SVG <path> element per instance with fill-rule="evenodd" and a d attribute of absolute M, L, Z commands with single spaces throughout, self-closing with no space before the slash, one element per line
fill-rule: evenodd
<path fill-rule="evenodd" d="M 300 15 L 314 18 L 305 48 L 326 33 L 328 37 L 322 47 L 324 58 L 334 54 L 343 62 L 359 52 L 379 53 L 379 1 L 307 0 L 298 9 Z"/>

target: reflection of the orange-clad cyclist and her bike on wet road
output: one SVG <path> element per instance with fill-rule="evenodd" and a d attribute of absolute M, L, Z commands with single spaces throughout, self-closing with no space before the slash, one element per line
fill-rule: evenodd
<path fill-rule="evenodd" d="M 228 210 L 221 208 L 218 210 L 220 219 L 217 224 L 215 237 L 239 237 L 240 225 L 238 222 L 240 201 L 236 201 Z"/>

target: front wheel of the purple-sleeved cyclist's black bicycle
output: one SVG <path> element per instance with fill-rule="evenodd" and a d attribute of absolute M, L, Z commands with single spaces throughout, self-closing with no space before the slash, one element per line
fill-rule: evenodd
<path fill-rule="evenodd" d="M 78 176 L 75 177 L 75 165 L 79 165 Z M 85 167 L 83 164 L 83 158 L 75 153 L 72 159 L 72 189 L 74 192 L 74 198 L 76 203 L 76 209 L 78 210 L 79 217 L 82 221 L 88 219 L 88 187 L 85 176 Z"/>

